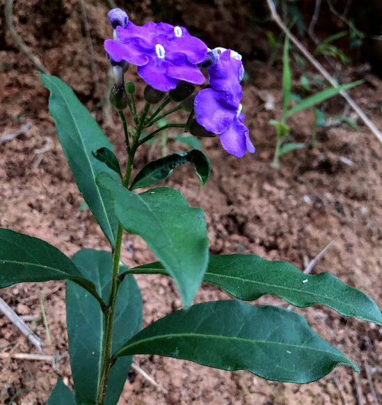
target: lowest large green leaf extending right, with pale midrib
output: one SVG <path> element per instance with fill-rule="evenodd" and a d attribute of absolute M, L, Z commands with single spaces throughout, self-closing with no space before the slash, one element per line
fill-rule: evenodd
<path fill-rule="evenodd" d="M 337 365 L 355 363 L 320 338 L 305 319 L 274 306 L 205 302 L 167 315 L 123 345 L 115 356 L 158 354 L 264 379 L 310 383 Z"/>

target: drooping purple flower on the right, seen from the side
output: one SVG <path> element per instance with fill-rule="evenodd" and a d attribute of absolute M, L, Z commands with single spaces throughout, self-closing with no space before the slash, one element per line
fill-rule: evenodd
<path fill-rule="evenodd" d="M 201 90 L 193 104 L 198 124 L 218 134 L 223 149 L 237 158 L 244 156 L 246 151 L 255 152 L 241 113 L 241 65 L 230 56 L 229 50 L 224 51 L 218 62 L 209 68 L 211 88 Z"/>

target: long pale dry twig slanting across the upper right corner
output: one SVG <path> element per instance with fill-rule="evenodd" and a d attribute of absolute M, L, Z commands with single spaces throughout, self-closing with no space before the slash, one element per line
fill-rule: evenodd
<path fill-rule="evenodd" d="M 295 44 L 297 49 L 299 49 L 299 51 L 303 54 L 303 56 L 305 56 L 305 58 L 307 58 L 307 60 L 322 74 L 322 76 L 324 76 L 324 78 L 326 78 L 326 80 L 329 83 L 331 83 L 331 85 L 333 85 L 334 88 L 337 88 L 338 84 L 335 82 L 333 77 L 312 56 L 312 54 L 308 51 L 308 49 L 306 49 L 303 46 L 303 44 L 301 44 L 301 42 L 289 31 L 287 26 L 285 26 L 285 24 L 282 22 L 282 20 L 280 19 L 280 16 L 277 13 L 276 6 L 275 6 L 275 3 L 273 3 L 273 0 L 266 0 L 266 3 L 268 4 L 269 10 L 271 11 L 271 16 L 272 16 L 273 20 L 276 22 L 276 24 L 278 24 L 278 26 L 282 29 L 282 31 L 284 31 L 285 35 L 287 35 L 287 37 L 291 40 L 291 42 L 293 42 Z M 379 129 L 376 128 L 376 126 L 373 124 L 373 122 L 370 121 L 370 119 L 363 112 L 363 110 L 361 110 L 361 108 L 358 106 L 358 104 L 356 104 L 356 102 L 353 101 L 353 99 L 349 96 L 349 94 L 347 94 L 347 92 L 344 92 L 342 90 L 340 92 L 340 94 L 342 95 L 342 97 L 344 97 L 344 99 L 347 101 L 349 106 L 351 106 L 351 108 L 353 108 L 353 110 L 356 111 L 356 113 L 358 114 L 360 119 L 362 119 L 363 122 L 365 123 L 365 125 L 368 126 L 370 131 L 372 131 L 372 133 L 374 133 L 376 138 L 378 138 L 378 140 L 380 142 L 382 142 L 382 133 L 379 131 Z"/>

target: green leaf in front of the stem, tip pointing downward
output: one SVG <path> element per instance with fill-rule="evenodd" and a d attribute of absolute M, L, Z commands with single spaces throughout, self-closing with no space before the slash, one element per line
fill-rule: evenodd
<path fill-rule="evenodd" d="M 207 268 L 208 239 L 200 208 L 191 208 L 172 188 L 152 188 L 136 195 L 102 173 L 100 187 L 114 201 L 118 220 L 129 233 L 141 236 L 173 276 L 189 306 Z"/>

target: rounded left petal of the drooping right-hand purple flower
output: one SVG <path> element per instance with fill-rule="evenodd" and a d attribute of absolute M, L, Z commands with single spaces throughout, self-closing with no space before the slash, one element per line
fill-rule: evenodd
<path fill-rule="evenodd" d="M 213 133 L 224 132 L 236 117 L 237 108 L 230 105 L 231 94 L 214 89 L 201 90 L 193 101 L 198 124 Z"/>

